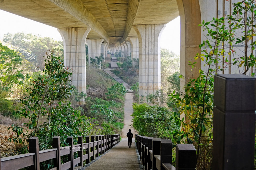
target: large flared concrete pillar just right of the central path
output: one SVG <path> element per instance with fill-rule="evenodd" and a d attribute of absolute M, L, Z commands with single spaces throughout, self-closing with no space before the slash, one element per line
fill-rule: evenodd
<path fill-rule="evenodd" d="M 161 87 L 160 37 L 166 24 L 133 25 L 139 40 L 139 91 L 141 96 Z"/>

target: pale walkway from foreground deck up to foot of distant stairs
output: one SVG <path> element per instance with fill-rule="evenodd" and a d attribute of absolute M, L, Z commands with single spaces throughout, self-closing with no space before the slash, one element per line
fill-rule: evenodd
<path fill-rule="evenodd" d="M 88 168 L 86 168 L 86 170 L 140 170 L 135 149 L 134 138 L 136 131 L 134 128 L 129 126 L 132 121 L 132 103 L 133 94 L 126 93 L 124 103 L 124 128 L 122 129 L 122 140 L 105 155 L 102 155 L 98 161 L 94 162 Z M 126 137 L 128 129 L 131 129 L 131 132 L 133 133 L 132 148 L 128 147 L 128 140 Z"/>

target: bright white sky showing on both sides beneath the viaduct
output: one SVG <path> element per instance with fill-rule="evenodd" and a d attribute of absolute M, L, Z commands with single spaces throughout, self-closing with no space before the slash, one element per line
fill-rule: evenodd
<path fill-rule="evenodd" d="M 57 41 L 62 38 L 57 28 L 24 18 L 9 12 L 0 10 L 0 39 L 4 34 L 24 32 L 41 35 L 42 37 L 51 37 Z M 161 36 L 161 47 L 167 48 L 175 54 L 179 55 L 180 49 L 180 20 L 179 17 L 172 20 L 168 24 Z"/>

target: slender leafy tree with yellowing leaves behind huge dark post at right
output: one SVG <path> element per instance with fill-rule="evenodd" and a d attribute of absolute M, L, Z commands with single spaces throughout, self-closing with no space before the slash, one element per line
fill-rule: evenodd
<path fill-rule="evenodd" d="M 252 0 L 233 3 L 233 6 L 232 15 L 213 18 L 211 21 L 203 21 L 199 24 L 204 31 L 207 31 L 209 39 L 199 45 L 201 54 L 197 54 L 195 60 L 200 59 L 205 68 L 199 69 L 200 75 L 196 79 L 188 81 L 181 95 L 175 90 L 170 94 L 171 103 L 175 103 L 176 107 L 180 108 L 174 115 L 181 115 L 182 118 L 180 120 L 178 116 L 173 117 L 177 125 L 182 125 L 181 131 L 176 131 L 179 135 L 176 142 L 194 144 L 197 149 L 198 169 L 209 169 L 211 165 L 212 156 L 208 151 L 212 148 L 214 75 L 225 73 L 229 67 L 237 68 L 242 74 L 248 73 L 251 68 L 251 75 L 254 75 L 252 68 L 255 68 L 256 58 L 248 51 L 248 47 L 251 45 L 253 51 L 256 46 L 256 42 L 252 39 L 256 36 L 255 15 L 251 17 L 247 14 L 255 14 L 256 7 Z M 225 45 L 230 45 L 230 50 L 224 48 Z M 244 46 L 244 50 L 241 50 L 238 57 L 231 61 L 230 56 L 235 53 L 233 46 L 237 45 Z M 195 64 L 196 62 L 190 62 L 192 69 Z M 183 78 L 183 75 L 179 77 Z"/>

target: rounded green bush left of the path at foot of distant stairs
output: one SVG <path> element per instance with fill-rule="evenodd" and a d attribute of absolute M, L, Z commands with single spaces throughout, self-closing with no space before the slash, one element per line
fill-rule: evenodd
<path fill-rule="evenodd" d="M 111 88 L 108 88 L 108 93 L 106 93 L 107 98 L 116 99 L 120 96 L 124 96 L 126 94 L 126 88 L 123 84 L 116 83 Z"/>

